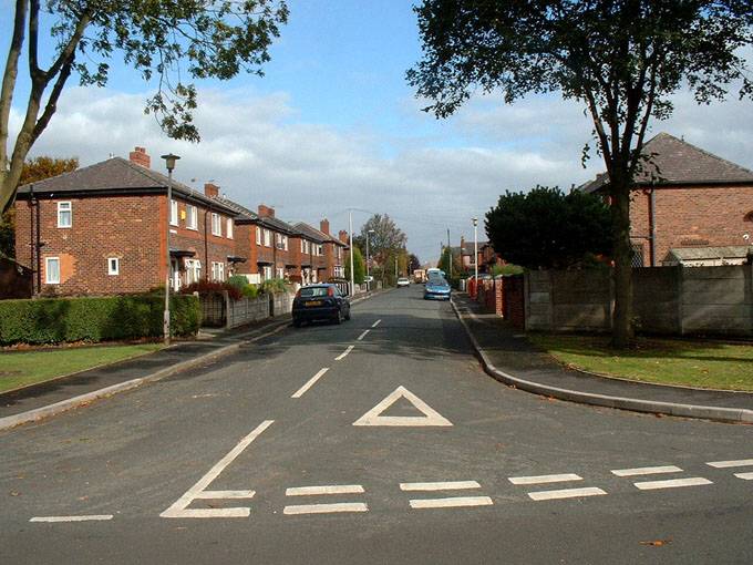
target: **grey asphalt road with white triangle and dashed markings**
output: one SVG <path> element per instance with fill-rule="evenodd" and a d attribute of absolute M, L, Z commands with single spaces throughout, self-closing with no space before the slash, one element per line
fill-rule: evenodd
<path fill-rule="evenodd" d="M 506 388 L 415 286 L 0 453 L 3 564 L 753 562 L 751 427 Z"/>

